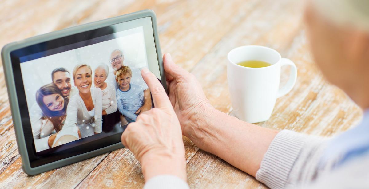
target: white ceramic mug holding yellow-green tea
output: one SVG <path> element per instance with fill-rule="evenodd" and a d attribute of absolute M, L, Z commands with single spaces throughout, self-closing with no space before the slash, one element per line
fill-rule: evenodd
<path fill-rule="evenodd" d="M 249 68 L 237 64 L 248 60 L 272 65 Z M 284 65 L 291 68 L 290 78 L 279 89 L 280 68 Z M 235 116 L 249 123 L 258 123 L 268 120 L 276 99 L 290 92 L 296 82 L 297 69 L 290 59 L 281 58 L 274 49 L 248 45 L 228 53 L 227 78 Z"/>

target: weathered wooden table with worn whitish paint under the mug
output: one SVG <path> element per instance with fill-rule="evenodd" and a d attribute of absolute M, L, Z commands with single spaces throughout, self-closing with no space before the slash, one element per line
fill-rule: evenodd
<path fill-rule="evenodd" d="M 3 0 L 0 47 L 141 9 L 156 12 L 162 52 L 170 52 L 177 64 L 200 80 L 218 110 L 232 111 L 227 53 L 255 44 L 276 49 L 298 70 L 293 90 L 277 99 L 272 117 L 259 126 L 331 136 L 360 120 L 359 107 L 327 83 L 314 65 L 303 28 L 303 5 L 296 0 Z M 282 85 L 288 72 L 282 69 Z M 0 83 L 0 188 L 142 188 L 141 167 L 126 148 L 27 176 L 21 169 L 2 68 Z M 183 137 L 183 141 L 190 188 L 266 188 L 252 176 L 200 150 L 188 138 Z"/>

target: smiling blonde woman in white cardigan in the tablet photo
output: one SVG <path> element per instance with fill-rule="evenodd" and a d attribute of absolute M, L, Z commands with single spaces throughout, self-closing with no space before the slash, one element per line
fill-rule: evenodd
<path fill-rule="evenodd" d="M 62 130 L 75 132 L 75 128 L 78 127 L 82 138 L 101 133 L 102 95 L 100 88 L 91 87 L 91 67 L 87 64 L 77 65 L 73 69 L 73 80 L 79 93 L 68 103 L 67 117 Z"/>

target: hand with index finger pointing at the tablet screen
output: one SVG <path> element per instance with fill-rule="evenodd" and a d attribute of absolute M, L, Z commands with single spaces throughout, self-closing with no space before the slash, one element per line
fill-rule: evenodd
<path fill-rule="evenodd" d="M 186 160 L 178 118 L 156 76 L 144 68 L 155 108 L 145 111 L 128 124 L 121 140 L 142 166 L 146 181 L 157 175 L 175 175 L 186 181 Z"/>

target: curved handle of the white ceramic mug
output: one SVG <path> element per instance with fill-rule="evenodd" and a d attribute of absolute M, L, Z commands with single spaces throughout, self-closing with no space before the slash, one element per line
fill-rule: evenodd
<path fill-rule="evenodd" d="M 288 92 L 291 91 L 291 89 L 293 88 L 293 86 L 296 83 L 296 79 L 297 79 L 297 68 L 296 65 L 288 58 L 282 58 L 281 59 L 281 63 L 280 63 L 280 67 L 282 66 L 286 66 L 289 65 L 291 68 L 290 71 L 290 78 L 288 79 L 287 83 L 278 90 L 277 93 L 277 98 L 286 95 Z"/>

